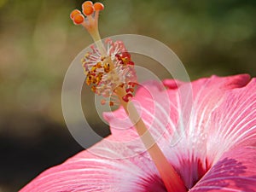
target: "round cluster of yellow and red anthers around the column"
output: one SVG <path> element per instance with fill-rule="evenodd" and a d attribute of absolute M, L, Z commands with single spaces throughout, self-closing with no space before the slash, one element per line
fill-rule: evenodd
<path fill-rule="evenodd" d="M 86 75 L 86 84 L 91 86 L 91 90 L 97 95 L 110 97 L 117 87 L 125 89 L 123 100 L 129 101 L 134 92 L 134 86 L 137 84 L 134 63 L 131 61 L 131 55 L 125 49 L 122 42 L 113 42 L 106 40 L 108 49 L 107 56 L 102 56 L 99 49 L 91 47 L 92 51 L 84 55 L 82 59 L 84 74 Z M 115 102 L 109 102 L 113 106 Z M 105 104 L 105 100 L 102 100 Z"/>

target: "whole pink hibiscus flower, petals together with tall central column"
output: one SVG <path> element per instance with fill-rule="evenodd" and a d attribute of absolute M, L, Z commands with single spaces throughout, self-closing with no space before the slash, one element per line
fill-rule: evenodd
<path fill-rule="evenodd" d="M 166 89 L 152 81 L 133 96 L 137 76 L 131 55 L 119 41 L 108 39 L 105 48 L 98 32 L 104 6 L 87 1 L 82 8 L 85 19 L 78 9 L 70 16 L 96 44 L 82 58 L 86 84 L 121 105 L 104 113 L 112 135 L 43 172 L 20 191 L 255 191 L 256 79 L 166 79 Z M 192 108 L 184 113 L 179 90 L 188 85 Z M 116 119 L 125 116 L 129 119 L 120 125 Z"/>

